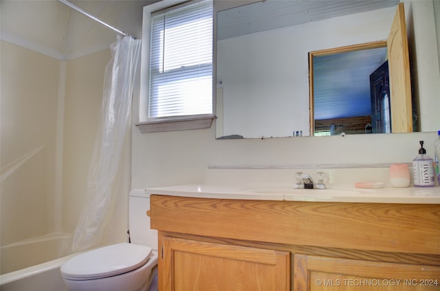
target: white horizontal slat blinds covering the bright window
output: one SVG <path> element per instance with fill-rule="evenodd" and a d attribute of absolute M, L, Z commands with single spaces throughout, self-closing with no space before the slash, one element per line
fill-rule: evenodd
<path fill-rule="evenodd" d="M 148 117 L 212 114 L 212 1 L 151 21 Z"/>

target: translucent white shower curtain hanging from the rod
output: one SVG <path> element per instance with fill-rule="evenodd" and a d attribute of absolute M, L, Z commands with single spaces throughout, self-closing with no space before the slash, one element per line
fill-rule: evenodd
<path fill-rule="evenodd" d="M 140 57 L 141 40 L 118 36 L 110 47 L 112 59 L 105 69 L 100 124 L 91 161 L 88 201 L 81 214 L 72 251 L 98 246 L 113 213 L 118 195 L 118 167 L 131 123 L 131 99 Z"/>

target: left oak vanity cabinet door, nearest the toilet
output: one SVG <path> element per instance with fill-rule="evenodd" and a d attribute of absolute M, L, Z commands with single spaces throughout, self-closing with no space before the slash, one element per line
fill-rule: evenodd
<path fill-rule="evenodd" d="M 290 290 L 290 253 L 164 237 L 159 290 Z"/>

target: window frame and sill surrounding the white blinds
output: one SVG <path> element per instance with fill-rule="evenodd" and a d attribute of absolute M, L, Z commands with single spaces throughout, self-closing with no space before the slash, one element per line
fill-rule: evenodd
<path fill-rule="evenodd" d="M 200 0 L 197 0 L 200 1 Z M 142 20 L 142 52 L 141 52 L 141 72 L 140 72 L 140 98 L 137 106 L 139 107 L 138 120 L 135 126 L 140 132 L 164 132 L 175 130 L 195 130 L 210 128 L 212 120 L 215 119 L 215 25 L 212 25 L 212 114 L 184 115 L 170 117 L 148 117 L 148 98 L 150 86 L 150 48 L 151 48 L 151 18 L 155 12 L 166 12 L 188 5 L 197 1 L 173 0 L 159 1 L 144 7 Z M 215 10 L 213 9 L 213 23 L 215 21 Z"/>

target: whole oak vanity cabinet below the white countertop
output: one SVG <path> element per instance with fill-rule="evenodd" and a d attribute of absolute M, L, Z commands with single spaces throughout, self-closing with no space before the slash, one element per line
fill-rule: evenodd
<path fill-rule="evenodd" d="M 159 290 L 440 290 L 440 206 L 151 195 Z"/>

